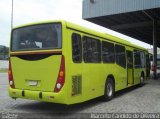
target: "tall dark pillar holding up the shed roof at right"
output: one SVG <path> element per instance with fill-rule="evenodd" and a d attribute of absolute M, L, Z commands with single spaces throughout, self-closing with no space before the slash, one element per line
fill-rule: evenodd
<path fill-rule="evenodd" d="M 157 79 L 157 20 L 153 20 L 153 77 Z"/>

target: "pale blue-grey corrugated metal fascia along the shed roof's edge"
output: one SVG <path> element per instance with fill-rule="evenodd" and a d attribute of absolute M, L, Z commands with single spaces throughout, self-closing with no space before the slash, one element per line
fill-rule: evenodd
<path fill-rule="evenodd" d="M 160 0 L 91 0 L 83 1 L 83 19 L 160 7 Z"/>

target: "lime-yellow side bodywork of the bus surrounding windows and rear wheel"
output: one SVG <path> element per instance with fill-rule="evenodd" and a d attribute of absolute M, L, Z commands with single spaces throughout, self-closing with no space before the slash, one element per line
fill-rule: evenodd
<path fill-rule="evenodd" d="M 63 40 L 66 49 L 65 60 L 66 60 L 66 83 L 67 85 L 67 102 L 68 104 L 84 102 L 99 96 L 104 95 L 105 81 L 108 75 L 113 75 L 115 79 L 115 91 L 124 89 L 128 87 L 127 85 L 127 66 L 121 67 L 118 64 L 104 64 L 104 63 L 84 63 L 83 53 L 82 62 L 74 63 L 72 59 L 72 34 L 77 33 L 81 35 L 81 40 L 83 36 L 90 36 L 88 34 L 81 33 L 79 31 L 74 31 L 71 29 L 66 29 L 65 39 Z M 99 38 L 96 38 L 99 39 Z M 102 40 L 102 39 L 99 39 Z M 130 47 L 126 47 L 126 50 L 132 51 Z M 82 48 L 83 52 L 83 48 Z M 126 60 L 127 61 L 127 60 Z M 134 84 L 140 83 L 141 69 L 134 69 Z M 76 82 L 76 83 L 75 83 Z M 75 94 L 74 86 L 77 86 L 79 90 Z"/>

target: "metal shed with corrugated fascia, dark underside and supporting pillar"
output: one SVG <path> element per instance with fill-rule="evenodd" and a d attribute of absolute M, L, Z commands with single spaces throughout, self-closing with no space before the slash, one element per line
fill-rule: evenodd
<path fill-rule="evenodd" d="M 160 47 L 160 0 L 83 0 L 83 19 Z M 156 73 L 156 71 L 155 71 Z"/>

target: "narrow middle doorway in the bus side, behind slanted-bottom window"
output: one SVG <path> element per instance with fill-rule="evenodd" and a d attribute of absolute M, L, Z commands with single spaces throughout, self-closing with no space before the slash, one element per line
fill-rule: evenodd
<path fill-rule="evenodd" d="M 133 52 L 127 51 L 127 85 L 134 84 L 133 80 Z"/>

